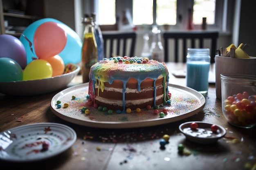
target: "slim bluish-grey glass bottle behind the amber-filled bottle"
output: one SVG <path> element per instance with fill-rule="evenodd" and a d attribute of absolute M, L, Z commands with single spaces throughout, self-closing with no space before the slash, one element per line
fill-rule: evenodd
<path fill-rule="evenodd" d="M 100 60 L 103 60 L 103 58 L 105 58 L 104 49 L 103 49 L 103 37 L 102 37 L 99 24 L 96 22 L 96 14 L 92 13 L 91 16 L 94 20 L 94 28 L 95 28 L 94 35 L 97 43 L 98 61 L 100 61 Z"/>

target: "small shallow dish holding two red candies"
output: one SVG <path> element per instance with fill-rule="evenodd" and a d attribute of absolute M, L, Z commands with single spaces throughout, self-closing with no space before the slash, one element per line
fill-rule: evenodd
<path fill-rule="evenodd" d="M 198 124 L 198 128 L 190 128 L 190 125 L 193 122 Z M 179 129 L 190 141 L 199 144 L 213 144 L 226 135 L 226 130 L 222 126 L 217 125 L 218 130 L 216 132 L 212 132 L 211 125 L 213 124 L 202 121 L 189 121 L 180 124 Z"/>

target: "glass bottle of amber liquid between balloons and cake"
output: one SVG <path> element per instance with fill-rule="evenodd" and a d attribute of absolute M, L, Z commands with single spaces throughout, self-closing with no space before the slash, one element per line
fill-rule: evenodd
<path fill-rule="evenodd" d="M 82 46 L 82 77 L 83 83 L 89 82 L 90 68 L 93 64 L 98 62 L 97 42 L 94 35 L 94 22 L 92 17 L 85 18 L 85 30 L 83 33 L 83 46 Z"/>

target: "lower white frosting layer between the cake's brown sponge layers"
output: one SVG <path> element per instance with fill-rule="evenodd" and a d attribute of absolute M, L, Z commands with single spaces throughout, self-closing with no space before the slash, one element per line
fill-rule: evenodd
<path fill-rule="evenodd" d="M 159 95 L 156 97 L 156 101 L 158 99 L 161 99 L 162 97 L 164 97 L 164 95 Z M 138 100 L 126 100 L 125 103 L 126 105 L 130 105 L 130 104 L 143 104 L 146 103 L 150 100 L 153 100 L 154 98 L 148 98 L 148 99 L 138 99 Z M 105 99 L 99 96 L 95 96 L 95 100 L 98 100 L 99 102 L 104 102 L 106 104 L 111 104 L 111 105 L 115 105 L 115 106 L 123 106 L 123 101 L 122 100 L 110 100 L 110 99 Z"/>

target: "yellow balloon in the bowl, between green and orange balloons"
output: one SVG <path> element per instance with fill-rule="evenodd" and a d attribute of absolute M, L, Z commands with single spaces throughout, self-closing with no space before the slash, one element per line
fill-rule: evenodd
<path fill-rule="evenodd" d="M 38 59 L 27 64 L 23 71 L 23 80 L 45 79 L 52 77 L 52 66 L 49 62 Z"/>

